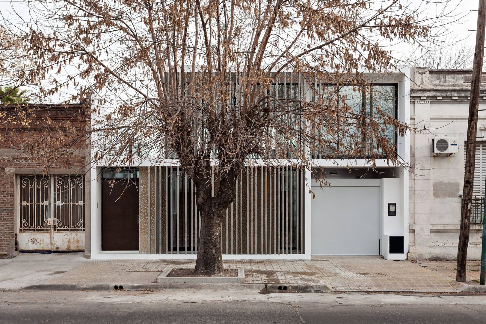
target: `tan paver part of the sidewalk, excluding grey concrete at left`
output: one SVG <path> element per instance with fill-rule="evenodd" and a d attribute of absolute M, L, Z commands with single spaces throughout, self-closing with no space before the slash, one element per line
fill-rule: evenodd
<path fill-rule="evenodd" d="M 156 281 L 168 266 L 193 266 L 179 260 L 91 260 L 47 281 L 48 284 L 123 283 Z M 225 267 L 243 267 L 246 283 L 327 284 L 348 290 L 457 291 L 461 284 L 439 271 L 408 261 L 377 256 L 326 256 L 312 260 L 225 261 Z"/>

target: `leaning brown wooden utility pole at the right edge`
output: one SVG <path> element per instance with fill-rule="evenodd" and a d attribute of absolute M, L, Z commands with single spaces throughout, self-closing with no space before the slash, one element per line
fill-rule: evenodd
<path fill-rule="evenodd" d="M 468 139 L 466 146 L 466 169 L 461 202 L 461 230 L 457 247 L 456 280 L 466 281 L 466 263 L 468 258 L 470 211 L 476 161 L 476 129 L 478 127 L 479 90 L 481 89 L 481 72 L 485 44 L 486 0 L 479 0 L 478 23 L 476 28 L 476 49 L 472 66 L 471 98 L 469 100 Z"/>

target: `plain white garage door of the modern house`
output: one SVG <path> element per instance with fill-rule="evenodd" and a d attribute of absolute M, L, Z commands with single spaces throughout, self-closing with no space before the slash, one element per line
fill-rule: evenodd
<path fill-rule="evenodd" d="M 380 254 L 378 184 L 312 189 L 312 254 Z"/>

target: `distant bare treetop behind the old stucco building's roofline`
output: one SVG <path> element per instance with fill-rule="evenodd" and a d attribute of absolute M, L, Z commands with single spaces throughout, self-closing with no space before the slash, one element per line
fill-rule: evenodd
<path fill-rule="evenodd" d="M 450 45 L 432 49 L 420 48 L 405 55 L 403 61 L 408 65 L 430 69 L 470 69 L 473 56 L 474 47 Z"/>

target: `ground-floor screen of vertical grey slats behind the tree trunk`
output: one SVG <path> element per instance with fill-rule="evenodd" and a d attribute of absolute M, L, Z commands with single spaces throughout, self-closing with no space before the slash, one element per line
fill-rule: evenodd
<path fill-rule="evenodd" d="M 196 254 L 201 216 L 193 181 L 177 166 L 156 167 L 161 254 Z M 218 189 L 217 175 L 212 180 Z M 222 222 L 225 254 L 304 253 L 305 172 L 293 166 L 247 166 Z"/>

